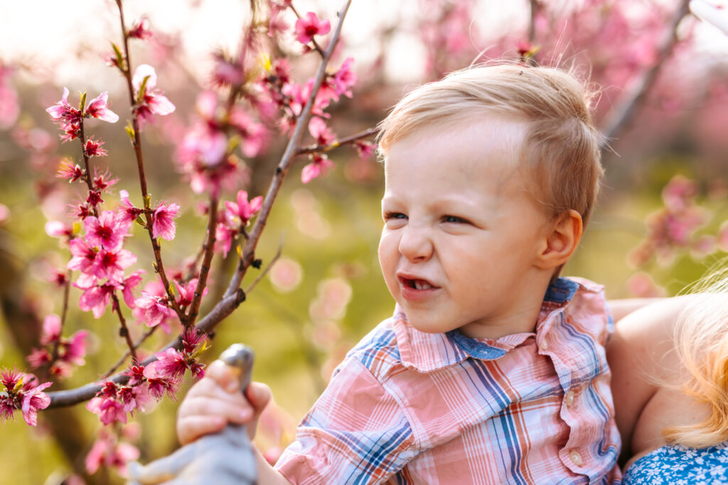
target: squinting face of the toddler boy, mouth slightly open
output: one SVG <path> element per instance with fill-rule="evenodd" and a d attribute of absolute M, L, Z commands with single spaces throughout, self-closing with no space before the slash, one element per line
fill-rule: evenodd
<path fill-rule="evenodd" d="M 532 332 L 544 289 L 529 289 L 548 225 L 518 170 L 523 126 L 494 118 L 438 128 L 387 153 L 379 262 L 389 292 L 422 332 Z"/>

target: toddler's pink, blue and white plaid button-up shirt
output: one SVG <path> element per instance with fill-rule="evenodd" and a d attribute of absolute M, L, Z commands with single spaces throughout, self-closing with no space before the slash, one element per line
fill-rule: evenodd
<path fill-rule="evenodd" d="M 352 349 L 276 467 L 294 484 L 618 481 L 602 287 L 558 278 L 536 333 L 419 332 L 397 308 Z"/>

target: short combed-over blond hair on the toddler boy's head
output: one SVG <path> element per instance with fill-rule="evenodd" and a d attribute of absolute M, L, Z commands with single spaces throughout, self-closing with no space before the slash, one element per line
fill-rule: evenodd
<path fill-rule="evenodd" d="M 521 160 L 550 216 L 574 209 L 587 223 L 603 174 L 591 96 L 571 73 L 516 64 L 455 71 L 403 97 L 379 124 L 379 153 L 431 124 L 501 115 L 526 125 Z"/>

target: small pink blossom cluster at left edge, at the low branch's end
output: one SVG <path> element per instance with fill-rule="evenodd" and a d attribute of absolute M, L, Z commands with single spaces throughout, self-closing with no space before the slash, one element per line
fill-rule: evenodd
<path fill-rule="evenodd" d="M 39 409 L 46 409 L 50 404 L 50 398 L 43 391 L 52 383 L 39 384 L 33 374 L 25 374 L 15 369 L 1 369 L 0 383 L 5 388 L 0 391 L 0 419 L 8 420 L 20 409 L 25 422 L 35 426 L 38 423 Z"/>

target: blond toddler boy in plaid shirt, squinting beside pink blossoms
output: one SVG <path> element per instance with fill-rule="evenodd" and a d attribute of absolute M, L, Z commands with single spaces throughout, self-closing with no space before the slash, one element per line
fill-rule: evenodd
<path fill-rule="evenodd" d="M 585 90 L 491 65 L 425 84 L 381 124 L 379 261 L 397 305 L 352 349 L 264 484 L 545 484 L 619 478 L 601 286 L 558 278 L 602 169 Z M 256 424 L 219 362 L 183 443 Z M 260 455 L 258 453 L 258 455 Z"/>

